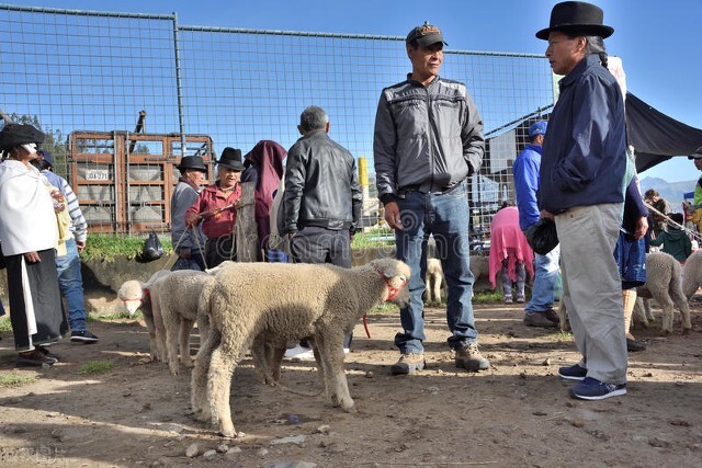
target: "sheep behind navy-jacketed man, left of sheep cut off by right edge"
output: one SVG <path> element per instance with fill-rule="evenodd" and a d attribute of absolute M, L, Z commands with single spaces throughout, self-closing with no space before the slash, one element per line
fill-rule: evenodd
<path fill-rule="evenodd" d="M 649 318 L 653 318 L 648 305 L 648 299 L 653 298 L 663 308 L 660 329 L 664 333 L 672 332 L 673 306 L 682 315 L 683 333 L 692 328 L 688 298 L 682 292 L 682 267 L 680 262 L 669 253 L 652 252 L 646 254 L 646 285 L 637 288 L 637 294 L 644 304 L 644 324 Z M 638 316 L 642 316 L 641 311 Z"/>

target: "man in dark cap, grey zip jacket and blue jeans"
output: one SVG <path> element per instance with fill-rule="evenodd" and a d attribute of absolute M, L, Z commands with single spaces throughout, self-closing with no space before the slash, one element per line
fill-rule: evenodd
<path fill-rule="evenodd" d="M 446 319 L 456 367 L 477 372 L 489 363 L 478 350 L 473 317 L 474 277 L 469 269 L 466 179 L 483 162 L 483 122 L 465 84 L 439 77 L 443 35 L 424 23 L 406 38 L 412 72 L 386 88 L 375 116 L 373 155 L 385 220 L 395 229 L 397 259 L 412 270 L 410 305 L 400 310 L 401 353 L 390 372 L 412 374 L 424 367 L 427 242 L 433 235 L 449 287 Z"/>

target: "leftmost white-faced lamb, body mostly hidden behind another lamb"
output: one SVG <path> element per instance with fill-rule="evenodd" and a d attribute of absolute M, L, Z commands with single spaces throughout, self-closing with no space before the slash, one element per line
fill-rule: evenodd
<path fill-rule="evenodd" d="M 166 362 L 166 341 L 162 335 L 157 336 L 156 323 L 154 322 L 154 312 L 151 309 L 151 285 L 171 274 L 170 270 L 159 270 L 149 277 L 146 283 L 136 279 L 124 282 L 117 292 L 117 297 L 124 301 L 129 316 L 133 316 L 137 309 L 141 310 L 146 328 L 149 331 L 149 351 L 151 359 L 160 359 Z"/>

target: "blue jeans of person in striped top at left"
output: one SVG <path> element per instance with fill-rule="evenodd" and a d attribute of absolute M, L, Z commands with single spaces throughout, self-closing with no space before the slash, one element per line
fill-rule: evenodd
<path fill-rule="evenodd" d="M 66 241 L 66 255 L 56 255 L 58 286 L 68 306 L 68 323 L 71 331 L 86 331 L 86 304 L 83 301 L 83 279 L 80 275 L 80 256 L 76 240 Z"/>

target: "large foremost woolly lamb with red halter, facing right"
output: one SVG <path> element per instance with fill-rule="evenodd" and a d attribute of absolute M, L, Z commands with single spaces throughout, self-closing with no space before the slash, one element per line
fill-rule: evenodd
<path fill-rule="evenodd" d="M 280 362 L 288 341 L 308 336 L 314 339 L 327 398 L 351 412 L 343 336 L 375 304 L 409 304 L 409 266 L 394 259 L 373 260 L 353 269 L 283 263 L 225 267 L 203 295 L 211 332 L 192 373 L 195 416 L 211 419 L 223 435 L 235 436 L 229 408 L 231 375 L 246 351 L 251 347 L 257 366 L 265 365 L 265 343 L 268 351 L 280 354 Z"/>

